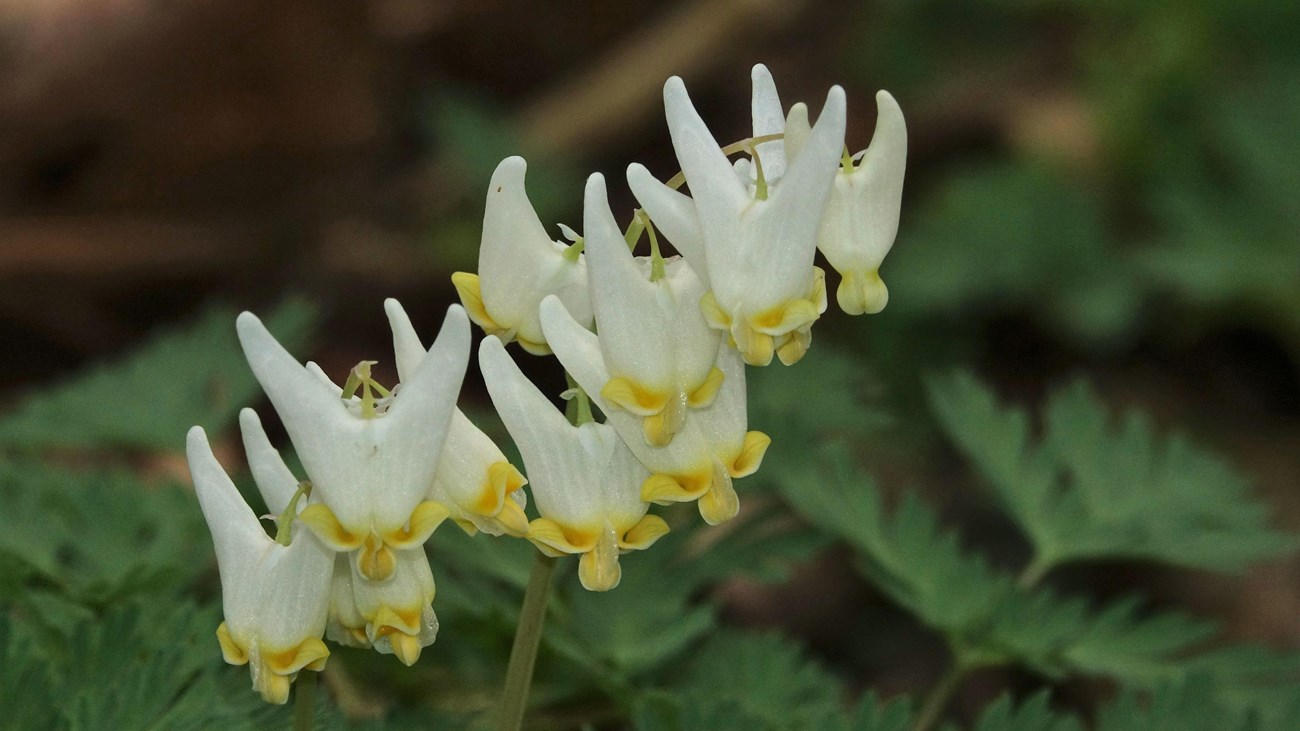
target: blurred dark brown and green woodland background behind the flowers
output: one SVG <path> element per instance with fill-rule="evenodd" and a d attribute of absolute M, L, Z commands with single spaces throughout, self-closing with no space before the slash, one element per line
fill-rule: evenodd
<path fill-rule="evenodd" d="M 832 302 L 814 343 L 861 369 L 880 424 L 861 449 L 885 488 L 1023 553 L 936 434 L 922 380 L 962 366 L 1036 406 L 1082 375 L 1214 446 L 1297 529 L 1297 34 L 1286 0 L 0 0 L 0 393 L 213 303 L 317 304 L 308 352 L 333 373 L 387 350 L 385 297 L 432 334 L 451 272 L 474 269 L 498 160 L 528 157 L 547 224 L 577 226 L 590 172 L 630 212 L 628 163 L 676 172 L 663 81 L 682 75 L 740 139 L 764 62 L 786 105 L 845 86 L 854 150 L 875 90 L 907 116 L 889 307 L 850 319 Z M 783 382 L 798 379 L 816 373 Z M 465 399 L 485 402 L 473 376 Z M 723 583 L 724 617 L 794 633 L 859 688 L 923 688 L 941 648 L 842 559 Z M 1143 587 L 1234 639 L 1300 644 L 1295 561 L 1058 580 Z M 898 640 L 864 649 L 857 631 Z M 1014 682 L 982 678 L 958 702 Z"/>

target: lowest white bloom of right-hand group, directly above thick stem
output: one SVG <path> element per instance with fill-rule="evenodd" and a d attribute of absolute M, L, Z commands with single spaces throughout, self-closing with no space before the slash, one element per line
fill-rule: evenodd
<path fill-rule="evenodd" d="M 556 306 L 563 308 L 558 300 Z M 646 470 L 607 424 L 572 425 L 488 337 L 478 367 L 502 421 L 528 470 L 541 518 L 528 527 L 547 555 L 580 554 L 578 578 L 593 592 L 619 585 L 619 554 L 649 548 L 668 532 L 646 512 L 641 484 Z"/>

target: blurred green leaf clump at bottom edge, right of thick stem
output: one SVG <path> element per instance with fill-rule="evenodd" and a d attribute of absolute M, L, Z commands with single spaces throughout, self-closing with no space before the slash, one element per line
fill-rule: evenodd
<path fill-rule="evenodd" d="M 714 633 L 675 680 L 641 700 L 637 728 L 797 731 L 842 718 L 838 679 L 775 633 Z"/>

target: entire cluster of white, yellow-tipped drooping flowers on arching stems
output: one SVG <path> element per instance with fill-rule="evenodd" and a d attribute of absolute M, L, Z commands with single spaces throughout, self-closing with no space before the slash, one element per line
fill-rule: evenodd
<path fill-rule="evenodd" d="M 827 307 L 816 250 L 841 274 L 845 312 L 879 312 L 888 299 L 879 267 L 898 226 L 906 130 L 892 96 L 881 91 L 876 103 L 871 144 L 850 155 L 844 90 L 831 88 L 810 124 L 806 105 L 784 111 L 759 65 L 753 137 L 724 147 L 672 78 L 664 107 L 682 174 L 664 183 L 630 165 L 628 185 L 644 209 L 627 230 L 593 174 L 582 235 L 562 228 L 567 241 L 552 241 L 529 203 L 524 160 L 502 161 L 478 272 L 452 277 L 464 308 L 448 308 L 425 350 L 402 307 L 385 303 L 399 380 L 391 389 L 374 380 L 373 362 L 338 385 L 240 315 L 248 364 L 307 480 L 244 410 L 244 449 L 276 522 L 272 537 L 203 429 L 190 432 L 190 468 L 221 568 L 225 659 L 248 663 L 272 702 L 285 702 L 299 671 L 324 667 L 322 636 L 413 663 L 438 630 L 422 544 L 447 518 L 471 535 L 580 555 L 582 585 L 607 591 L 619 584 L 621 553 L 668 532 L 651 505 L 694 502 L 710 524 L 734 516 L 733 481 L 758 470 L 771 442 L 749 431 L 745 366 L 803 358 Z M 729 161 L 736 152 L 746 156 Z M 660 252 L 656 230 L 681 256 Z M 642 238 L 650 252 L 637 256 Z M 478 366 L 528 479 L 456 408 L 471 321 L 488 334 Z M 576 384 L 564 394 L 575 419 L 524 376 L 511 342 L 559 359 Z"/>

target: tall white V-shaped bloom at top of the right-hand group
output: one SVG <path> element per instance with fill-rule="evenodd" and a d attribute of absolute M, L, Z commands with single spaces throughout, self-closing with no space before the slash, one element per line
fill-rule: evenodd
<path fill-rule="evenodd" d="M 755 129 L 780 117 L 780 101 L 766 69 L 754 70 Z M 628 168 L 628 185 L 650 217 L 703 276 L 710 291 L 701 307 L 714 328 L 727 330 L 745 362 L 786 366 L 803 358 L 812 323 L 826 311 L 826 285 L 812 265 L 816 235 L 844 147 L 844 90 L 832 87 L 822 117 L 798 159 L 770 153 L 779 183 L 753 168 L 734 169 L 696 112 L 677 77 L 664 85 L 664 108 L 677 161 L 690 198 L 656 181 L 641 165 Z M 774 112 L 775 105 L 775 112 Z M 767 150 L 776 150 L 771 147 Z M 749 170 L 755 178 L 750 181 Z"/>

